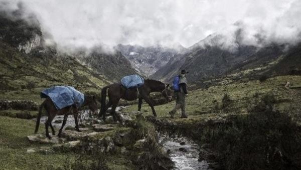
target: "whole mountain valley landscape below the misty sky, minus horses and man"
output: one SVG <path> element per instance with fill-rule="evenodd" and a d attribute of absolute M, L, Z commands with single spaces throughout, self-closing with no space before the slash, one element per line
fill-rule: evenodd
<path fill-rule="evenodd" d="M 190 47 L 69 51 L 49 43 L 39 17 L 22 12 L 0 8 L 0 169 L 301 168 L 300 42 L 246 45 L 238 31 L 231 49 L 215 33 Z M 137 111 L 137 99 L 119 102 L 117 122 L 111 108 L 100 117 L 103 87 L 130 74 L 172 84 L 182 69 L 189 71 L 188 118 L 171 117 L 176 100 L 164 98 L 164 84 L 150 93 L 157 117 L 145 101 Z M 62 137 L 49 139 L 45 109 L 34 130 L 40 92 L 55 85 L 95 95 L 98 110 L 80 109 L 80 131 L 69 115 Z M 54 119 L 56 133 L 62 121 Z"/>

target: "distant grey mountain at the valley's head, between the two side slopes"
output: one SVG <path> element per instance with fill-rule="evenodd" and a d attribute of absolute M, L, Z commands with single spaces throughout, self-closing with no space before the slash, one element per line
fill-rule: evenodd
<path fill-rule="evenodd" d="M 181 44 L 174 45 L 174 48 L 119 44 L 115 46 L 115 49 L 119 50 L 130 61 L 132 67 L 145 76 L 154 74 L 171 58 L 185 50 Z"/>

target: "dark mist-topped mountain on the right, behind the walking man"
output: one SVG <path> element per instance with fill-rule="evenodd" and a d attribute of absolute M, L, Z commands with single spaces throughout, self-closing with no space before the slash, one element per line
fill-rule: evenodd
<path fill-rule="evenodd" d="M 265 44 L 263 47 L 252 45 L 242 45 L 239 37 L 233 42 L 234 49 L 228 49 L 221 43 L 222 36 L 218 34 L 210 35 L 200 42 L 189 47 L 183 54 L 175 55 L 162 68 L 157 70 L 152 77 L 171 81 L 173 76 L 181 69 L 189 70 L 187 75 L 191 82 L 208 79 L 211 77 L 235 74 L 239 76 L 258 76 L 267 74 L 268 76 L 280 73 L 278 70 L 270 71 L 275 64 L 286 67 L 283 72 L 290 71 L 284 61 L 292 62 L 292 58 L 285 59 L 289 52 L 298 45 L 287 50 L 286 44 Z M 296 50 L 294 57 L 300 56 L 300 51 Z M 285 65 L 285 66 L 284 66 Z M 300 62 L 294 64 L 294 69 L 300 69 Z"/>

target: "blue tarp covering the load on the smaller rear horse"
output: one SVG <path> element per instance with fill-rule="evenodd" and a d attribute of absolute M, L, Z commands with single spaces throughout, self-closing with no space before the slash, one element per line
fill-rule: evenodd
<path fill-rule="evenodd" d="M 68 85 L 45 88 L 41 91 L 41 97 L 50 97 L 57 109 L 67 107 L 74 103 L 79 107 L 85 100 L 83 93 Z"/>

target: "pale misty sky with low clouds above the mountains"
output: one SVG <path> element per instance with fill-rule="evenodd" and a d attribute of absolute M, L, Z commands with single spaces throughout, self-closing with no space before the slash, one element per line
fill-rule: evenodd
<path fill-rule="evenodd" d="M 35 13 L 61 46 L 118 43 L 189 47 L 212 33 L 258 44 L 300 39 L 301 0 L 0 0 Z"/>

